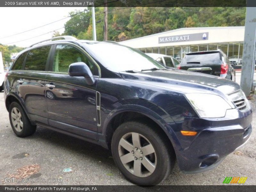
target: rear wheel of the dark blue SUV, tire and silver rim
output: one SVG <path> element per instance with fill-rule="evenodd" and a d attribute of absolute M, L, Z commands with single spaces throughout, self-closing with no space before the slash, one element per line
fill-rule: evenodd
<path fill-rule="evenodd" d="M 17 102 L 10 105 L 9 119 L 12 130 L 18 137 L 27 137 L 36 131 L 36 125 L 31 125 L 25 111 Z"/>

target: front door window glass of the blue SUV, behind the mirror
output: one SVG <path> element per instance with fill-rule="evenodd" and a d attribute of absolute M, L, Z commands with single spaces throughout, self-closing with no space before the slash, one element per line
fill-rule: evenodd
<path fill-rule="evenodd" d="M 84 62 L 91 69 L 93 75 L 99 75 L 95 64 L 84 53 L 71 45 L 57 45 L 52 71 L 68 73 L 69 65 L 76 62 Z"/>

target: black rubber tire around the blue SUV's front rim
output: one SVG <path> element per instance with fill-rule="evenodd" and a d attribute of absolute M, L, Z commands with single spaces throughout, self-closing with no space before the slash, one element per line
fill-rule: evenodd
<path fill-rule="evenodd" d="M 150 173 L 151 175 L 149 176 L 135 176 L 130 171 L 128 171 L 128 169 L 121 162 L 119 156 L 119 141 L 124 135 L 127 135 L 131 132 L 139 133 L 140 135 L 144 136 L 150 142 L 150 144 L 152 144 L 155 150 L 157 162 L 155 170 Z M 114 161 L 117 167 L 123 173 L 124 177 L 137 185 L 157 185 L 158 183 L 162 182 L 171 173 L 176 159 L 172 145 L 170 145 L 170 142 L 163 136 L 163 134 L 157 130 L 157 128 L 154 129 L 149 123 L 142 123 L 141 121 L 130 121 L 121 124 L 113 134 L 111 150 Z M 132 152 L 134 153 L 134 151 Z M 130 163 L 135 165 L 135 160 L 132 160 L 129 162 L 129 164 Z"/>

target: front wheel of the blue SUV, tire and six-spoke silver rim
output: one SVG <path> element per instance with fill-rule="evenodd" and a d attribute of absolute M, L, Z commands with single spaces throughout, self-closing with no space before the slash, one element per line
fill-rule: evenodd
<path fill-rule="evenodd" d="M 175 163 L 172 146 L 150 124 L 121 124 L 111 143 L 114 161 L 124 176 L 138 185 L 156 185 L 166 179 Z"/>

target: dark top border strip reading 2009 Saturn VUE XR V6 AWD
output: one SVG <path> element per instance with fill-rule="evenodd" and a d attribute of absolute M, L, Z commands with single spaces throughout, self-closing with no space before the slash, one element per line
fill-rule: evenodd
<path fill-rule="evenodd" d="M 1 0 L 0 7 L 256 7 L 255 0 Z M 42 3 L 39 3 L 42 2 Z M 88 3 L 87 3 L 88 2 Z M 93 5 L 91 4 L 93 3 Z"/>

